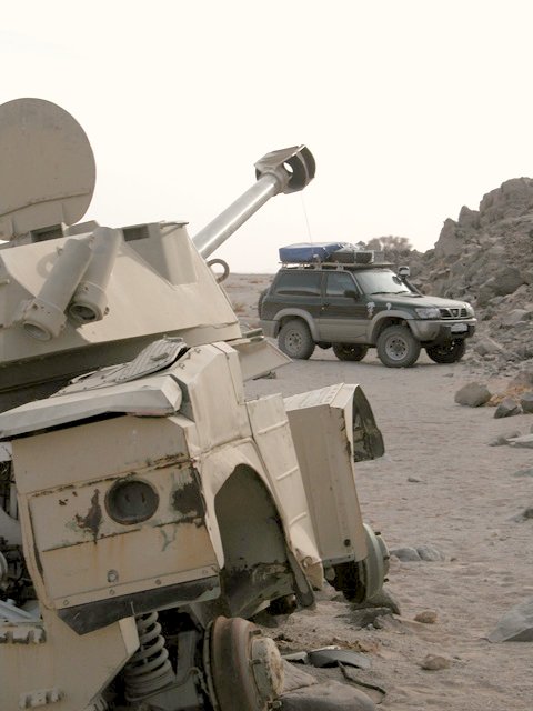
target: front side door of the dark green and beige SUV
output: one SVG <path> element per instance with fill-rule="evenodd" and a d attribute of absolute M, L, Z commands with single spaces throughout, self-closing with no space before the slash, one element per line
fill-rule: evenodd
<path fill-rule="evenodd" d="M 369 318 L 361 290 L 346 271 L 324 276 L 323 302 L 316 319 L 320 340 L 364 343 Z"/>

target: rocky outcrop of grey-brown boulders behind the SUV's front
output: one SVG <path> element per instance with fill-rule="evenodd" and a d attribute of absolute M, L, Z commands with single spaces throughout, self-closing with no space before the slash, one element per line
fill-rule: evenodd
<path fill-rule="evenodd" d="M 477 210 L 461 208 L 433 250 L 413 253 L 411 272 L 425 293 L 474 306 L 472 362 L 494 371 L 533 364 L 533 179 L 507 180 Z"/>

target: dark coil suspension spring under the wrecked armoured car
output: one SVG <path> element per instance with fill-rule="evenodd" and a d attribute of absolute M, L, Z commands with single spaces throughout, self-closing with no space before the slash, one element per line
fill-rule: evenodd
<path fill-rule="evenodd" d="M 158 613 L 135 618 L 140 647 L 124 667 L 125 698 L 139 701 L 175 680 Z"/>

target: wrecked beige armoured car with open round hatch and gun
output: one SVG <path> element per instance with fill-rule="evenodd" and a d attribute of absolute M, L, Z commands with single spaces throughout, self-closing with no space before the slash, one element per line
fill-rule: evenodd
<path fill-rule="evenodd" d="M 0 107 L 0 708 L 275 707 L 279 652 L 250 622 L 382 585 L 354 460 L 383 453 L 356 385 L 247 401 L 286 361 L 243 333 L 207 258 L 314 176 L 305 147 L 192 240 L 80 223 L 81 127 Z"/>

